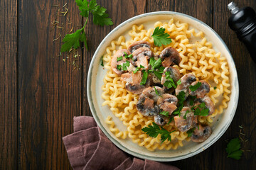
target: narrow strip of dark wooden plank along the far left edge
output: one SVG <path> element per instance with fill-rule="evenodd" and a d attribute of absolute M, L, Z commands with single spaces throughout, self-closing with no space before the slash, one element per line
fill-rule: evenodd
<path fill-rule="evenodd" d="M 0 6 L 0 169 L 16 169 L 17 1 Z"/>

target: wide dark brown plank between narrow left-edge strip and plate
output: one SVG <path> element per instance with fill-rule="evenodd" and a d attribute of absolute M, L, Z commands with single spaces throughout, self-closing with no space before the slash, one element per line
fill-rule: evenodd
<path fill-rule="evenodd" d="M 71 0 L 19 2 L 18 168 L 71 169 L 62 137 L 81 114 L 81 69 L 73 70 L 73 56 L 58 55 L 65 33 L 81 25 L 78 7 Z"/>

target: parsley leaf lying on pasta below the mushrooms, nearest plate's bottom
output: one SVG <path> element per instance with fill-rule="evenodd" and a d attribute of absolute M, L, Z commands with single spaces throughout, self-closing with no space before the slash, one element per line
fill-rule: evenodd
<path fill-rule="evenodd" d="M 156 125 L 156 123 L 149 125 L 149 127 L 142 128 L 142 132 L 145 132 L 146 135 L 149 135 L 150 137 L 157 137 L 160 134 L 161 143 L 163 143 L 165 140 L 171 141 L 171 133 L 174 131 L 169 132 L 168 130 L 159 127 L 159 125 Z"/>

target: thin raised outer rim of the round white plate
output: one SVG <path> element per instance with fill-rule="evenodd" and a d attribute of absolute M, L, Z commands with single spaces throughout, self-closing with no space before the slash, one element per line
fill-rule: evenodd
<path fill-rule="evenodd" d="M 234 84 L 236 86 L 234 86 L 235 91 L 237 91 L 237 96 L 235 96 L 235 105 L 233 106 L 233 110 L 231 111 L 231 116 L 230 116 L 230 120 L 228 121 L 228 123 L 225 124 L 225 126 L 223 127 L 224 130 L 220 131 L 220 133 L 218 133 L 218 135 L 213 139 L 210 140 L 209 142 L 207 142 L 205 145 L 203 145 L 201 148 L 197 149 L 194 152 L 190 152 L 186 155 L 181 155 L 181 156 L 176 156 L 176 157 L 153 157 L 153 156 L 149 156 L 149 155 L 145 155 L 145 154 L 141 154 L 138 152 L 134 152 L 130 149 L 127 149 L 126 147 L 124 147 L 123 145 L 121 145 L 116 139 L 114 139 L 108 132 L 107 130 L 105 130 L 105 128 L 103 127 L 102 123 L 100 122 L 100 119 L 98 118 L 97 114 L 96 114 L 96 110 L 95 107 L 93 105 L 92 102 L 92 93 L 90 91 L 90 86 L 92 84 L 92 68 L 93 68 L 93 63 L 95 62 L 96 58 L 97 58 L 97 53 L 100 50 L 100 47 L 105 43 L 105 41 L 107 40 L 107 38 L 109 38 L 116 30 L 118 30 L 119 28 L 122 28 L 122 26 L 125 26 L 127 23 L 130 23 L 134 20 L 137 20 L 138 18 L 142 18 L 144 16 L 157 16 L 157 15 L 179 15 L 179 16 L 185 16 L 187 18 L 191 18 L 194 21 L 198 21 L 198 23 L 203 24 L 203 26 L 206 26 L 207 28 L 209 28 L 213 33 L 215 33 L 215 35 L 218 37 L 218 39 L 222 42 L 223 46 L 225 47 L 225 50 L 227 50 L 227 52 L 229 53 L 231 60 L 230 62 L 228 62 L 228 64 L 230 66 L 235 66 L 235 62 L 233 60 L 233 57 L 230 53 L 230 50 L 228 49 L 227 45 L 225 44 L 225 42 L 223 41 L 222 38 L 220 38 L 220 35 L 218 35 L 218 33 L 215 32 L 215 30 L 213 30 L 213 28 L 210 28 L 210 26 L 208 26 L 206 23 L 203 23 L 203 21 L 198 20 L 197 18 L 194 18 L 193 16 L 188 16 L 184 13 L 178 13 L 178 12 L 174 12 L 174 11 L 155 11 L 155 12 L 150 12 L 150 13 L 143 13 L 140 14 L 138 16 L 134 16 L 132 18 L 129 18 L 128 20 L 120 23 L 116 28 L 114 28 L 112 31 L 110 31 L 110 33 L 108 33 L 105 38 L 102 40 L 102 42 L 100 42 L 100 45 L 98 45 L 97 50 L 95 51 L 92 60 L 90 62 L 90 67 L 89 67 L 89 71 L 87 74 L 87 99 L 88 99 L 88 103 L 90 106 L 90 111 L 92 113 L 92 116 L 95 118 L 95 121 L 97 123 L 97 125 L 100 127 L 100 129 L 102 130 L 102 132 L 104 132 L 104 134 L 107 136 L 107 138 L 112 141 L 114 143 L 114 145 L 116 147 L 118 147 L 119 149 L 122 149 L 124 152 L 127 152 L 128 154 L 132 154 L 134 157 L 139 157 L 141 159 L 149 159 L 149 160 L 153 160 L 153 161 L 158 161 L 158 162 L 172 162 L 172 161 L 178 161 L 181 159 L 186 159 L 188 157 L 193 157 L 196 154 L 199 154 L 200 152 L 203 152 L 203 150 L 206 150 L 208 147 L 210 147 L 211 145 L 213 145 L 213 143 L 215 143 L 224 133 L 225 131 L 228 129 L 230 123 L 232 122 L 234 115 L 235 115 L 235 111 L 236 108 L 238 107 L 238 98 L 239 98 L 239 84 L 238 84 L 238 74 L 237 74 L 237 70 L 236 68 L 234 69 L 235 72 L 233 72 L 234 75 Z"/>

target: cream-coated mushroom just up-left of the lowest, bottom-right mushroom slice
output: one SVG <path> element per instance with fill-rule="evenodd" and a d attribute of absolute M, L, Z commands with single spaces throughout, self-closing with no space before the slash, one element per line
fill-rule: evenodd
<path fill-rule="evenodd" d="M 191 108 L 183 107 L 181 110 L 181 116 L 174 116 L 174 122 L 176 127 L 181 132 L 186 132 L 198 123 L 197 116 L 193 114 Z"/>

